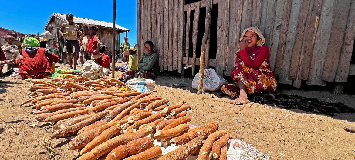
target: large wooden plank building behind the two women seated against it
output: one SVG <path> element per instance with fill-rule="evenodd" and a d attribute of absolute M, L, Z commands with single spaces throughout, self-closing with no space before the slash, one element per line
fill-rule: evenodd
<path fill-rule="evenodd" d="M 137 43 L 152 40 L 160 71 L 198 72 L 207 0 L 137 0 Z M 213 0 L 205 68 L 228 76 L 241 32 L 259 28 L 278 82 L 325 86 L 355 75 L 355 0 Z M 188 58 L 186 58 L 188 57 Z M 355 59 L 355 55 L 353 56 Z M 351 63 L 354 63 L 353 60 Z M 197 66 L 195 69 L 195 65 Z M 337 83 L 341 85 L 342 83 Z"/>

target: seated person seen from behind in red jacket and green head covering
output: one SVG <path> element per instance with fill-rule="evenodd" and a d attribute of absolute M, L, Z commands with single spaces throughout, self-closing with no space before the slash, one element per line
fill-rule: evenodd
<path fill-rule="evenodd" d="M 59 62 L 60 58 L 48 49 L 39 48 L 39 41 L 33 37 L 26 37 L 23 40 L 25 48 L 22 49 L 23 63 L 19 64 L 18 79 L 25 78 L 46 78 L 50 75 L 53 62 Z"/>

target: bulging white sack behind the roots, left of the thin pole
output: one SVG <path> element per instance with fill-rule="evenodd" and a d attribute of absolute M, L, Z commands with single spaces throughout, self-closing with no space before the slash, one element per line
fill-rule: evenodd
<path fill-rule="evenodd" d="M 110 70 L 96 64 L 92 60 L 87 60 L 82 69 L 83 73 L 81 76 L 84 76 L 89 79 L 99 79 L 100 77 L 105 77 L 109 74 Z"/>

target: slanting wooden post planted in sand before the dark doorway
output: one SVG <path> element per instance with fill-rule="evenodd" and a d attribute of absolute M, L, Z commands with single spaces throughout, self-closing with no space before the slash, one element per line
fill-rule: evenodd
<path fill-rule="evenodd" d="M 206 5 L 206 23 L 202 38 L 201 56 L 200 56 L 200 75 L 198 76 L 197 94 L 202 94 L 203 90 L 203 71 L 204 71 L 204 53 L 206 52 L 207 39 L 209 35 L 209 26 L 211 24 L 212 0 L 207 0 Z M 187 57 L 188 58 L 188 57 Z"/>

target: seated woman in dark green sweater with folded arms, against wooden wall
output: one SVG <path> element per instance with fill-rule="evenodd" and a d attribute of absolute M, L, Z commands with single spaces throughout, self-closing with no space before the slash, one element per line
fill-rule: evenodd
<path fill-rule="evenodd" d="M 155 78 L 155 74 L 158 72 L 159 55 L 154 52 L 154 45 L 152 41 L 144 42 L 144 50 L 146 51 L 142 58 L 138 61 L 138 68 L 140 71 L 127 71 L 122 74 L 121 78 L 129 75 L 130 78 Z M 126 79 L 128 80 L 128 79 Z"/>

